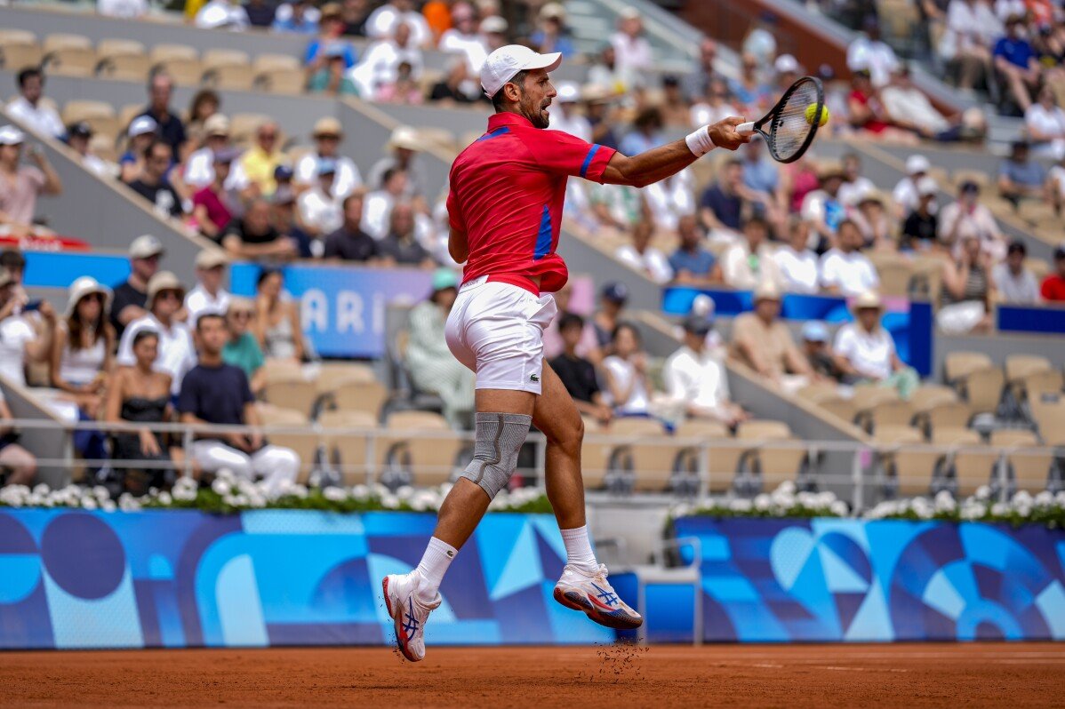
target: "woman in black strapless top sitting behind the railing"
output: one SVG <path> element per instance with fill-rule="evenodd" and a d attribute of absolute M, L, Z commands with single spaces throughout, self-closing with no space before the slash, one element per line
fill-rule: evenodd
<path fill-rule="evenodd" d="M 111 457 L 116 461 L 171 462 L 178 458 L 179 449 L 170 448 L 167 434 L 152 431 L 150 427 L 167 423 L 174 415 L 170 375 L 155 369 L 160 354 L 159 333 L 151 329 L 141 330 L 133 337 L 131 348 L 134 364 L 118 368 L 108 388 L 106 421 L 147 425 L 135 433 L 115 433 Z M 173 466 L 116 467 L 122 488 L 134 495 L 144 495 L 150 488 L 166 488 L 173 482 Z"/>

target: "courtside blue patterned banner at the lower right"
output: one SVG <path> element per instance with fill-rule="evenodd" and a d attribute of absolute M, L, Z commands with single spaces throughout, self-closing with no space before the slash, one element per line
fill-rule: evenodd
<path fill-rule="evenodd" d="M 1065 640 L 1060 529 L 698 516 L 675 528 L 700 540 L 706 641 Z M 671 608 L 649 606 L 650 637 Z"/>

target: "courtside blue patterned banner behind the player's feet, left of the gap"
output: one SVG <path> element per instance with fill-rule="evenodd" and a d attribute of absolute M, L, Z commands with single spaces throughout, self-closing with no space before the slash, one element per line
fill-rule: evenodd
<path fill-rule="evenodd" d="M 0 510 L 0 648 L 382 645 L 381 578 L 417 565 L 435 514 Z M 456 557 L 430 644 L 592 644 L 552 597 L 552 515 L 489 514 Z"/>

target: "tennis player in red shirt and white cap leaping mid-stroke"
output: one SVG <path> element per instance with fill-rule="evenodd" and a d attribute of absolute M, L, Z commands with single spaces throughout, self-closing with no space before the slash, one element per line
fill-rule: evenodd
<path fill-rule="evenodd" d="M 555 253 L 566 182 L 643 187 L 668 178 L 716 147 L 750 141 L 742 118 L 704 126 L 632 158 L 548 131 L 555 87 L 548 72 L 559 53 L 520 45 L 493 51 L 480 72 L 495 115 L 488 132 L 455 160 L 447 213 L 448 250 L 465 262 L 458 299 L 447 318 L 447 346 L 477 374 L 474 459 L 440 508 L 421 563 L 382 581 L 396 642 L 404 657 L 425 657 L 425 622 L 441 603 L 440 583 L 489 502 L 510 481 L 518 451 L 535 424 L 547 439 L 547 498 L 566 543 L 567 563 L 555 599 L 611 628 L 637 628 L 643 619 L 613 592 L 585 526 L 580 477 L 584 424 L 573 400 L 543 361 L 543 329 L 556 309 L 552 293 L 568 278 Z"/>

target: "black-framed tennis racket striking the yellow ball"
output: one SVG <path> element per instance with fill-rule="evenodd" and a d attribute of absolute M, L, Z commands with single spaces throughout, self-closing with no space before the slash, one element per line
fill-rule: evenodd
<path fill-rule="evenodd" d="M 813 122 L 806 120 L 806 109 L 817 106 L 812 113 Z M 814 135 L 824 111 L 824 89 L 821 80 L 803 77 L 791 84 L 784 96 L 760 120 L 740 123 L 737 133 L 758 133 L 766 138 L 769 154 L 780 163 L 793 163 L 802 158 L 814 142 Z"/>

